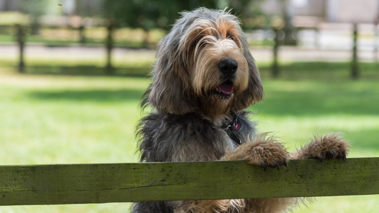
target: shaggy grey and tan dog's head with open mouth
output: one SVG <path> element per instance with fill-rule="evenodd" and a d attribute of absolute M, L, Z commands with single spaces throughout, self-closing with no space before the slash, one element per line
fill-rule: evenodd
<path fill-rule="evenodd" d="M 172 114 L 214 118 L 260 101 L 258 68 L 237 17 L 199 8 L 182 13 L 158 44 L 143 104 Z"/>

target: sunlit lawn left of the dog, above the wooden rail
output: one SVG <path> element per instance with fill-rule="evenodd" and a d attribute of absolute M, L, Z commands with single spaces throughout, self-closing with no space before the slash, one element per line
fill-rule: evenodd
<path fill-rule="evenodd" d="M 6 75 L 0 82 L 1 164 L 137 160 L 146 79 Z"/>

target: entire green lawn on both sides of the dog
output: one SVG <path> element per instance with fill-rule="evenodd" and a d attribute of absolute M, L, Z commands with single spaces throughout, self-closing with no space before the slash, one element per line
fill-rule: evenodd
<path fill-rule="evenodd" d="M 378 74 L 371 71 L 353 81 L 341 69 L 337 74 L 320 69 L 331 66 L 330 70 L 333 64 L 312 65 L 313 70 L 304 71 L 301 63 L 284 65 L 281 80 L 270 79 L 267 66 L 261 66 L 265 100 L 251 107 L 260 131 L 273 132 L 290 151 L 314 133 L 342 131 L 352 143 L 348 157 L 379 157 Z M 138 160 L 134 131 L 142 116 L 138 104 L 148 79 L 13 71 L 0 67 L 1 164 Z M 317 200 L 294 212 L 374 213 L 379 209 L 379 195 Z M 114 213 L 128 212 L 129 205 L 11 206 L 0 207 L 0 212 Z"/>

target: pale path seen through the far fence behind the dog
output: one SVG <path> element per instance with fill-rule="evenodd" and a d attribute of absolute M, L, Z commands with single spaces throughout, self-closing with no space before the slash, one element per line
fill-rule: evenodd
<path fill-rule="evenodd" d="M 272 61 L 273 53 L 271 48 L 257 47 L 251 48 L 251 52 L 257 61 Z M 39 60 L 59 60 L 62 58 L 72 60 L 105 60 L 105 48 L 102 47 L 47 47 L 42 45 L 26 45 L 25 57 L 38 58 Z M 113 50 L 113 59 L 136 61 L 154 61 L 155 50 L 152 49 L 123 49 L 115 48 Z M 280 61 L 349 61 L 352 52 L 349 50 L 327 50 L 315 48 L 285 47 L 279 49 Z M 360 61 L 374 61 L 375 53 L 373 50 L 361 50 L 358 52 Z M 378 55 L 376 55 L 378 58 Z M 18 49 L 16 45 L 0 45 L 0 59 L 17 59 Z"/>

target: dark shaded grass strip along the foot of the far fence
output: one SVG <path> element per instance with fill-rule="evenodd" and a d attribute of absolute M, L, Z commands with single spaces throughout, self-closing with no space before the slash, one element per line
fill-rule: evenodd
<path fill-rule="evenodd" d="M 3 65 L 12 66 L 12 64 L 2 61 Z M 13 67 L 17 71 L 16 67 Z M 279 79 L 291 80 L 346 80 L 351 79 L 350 62 L 291 62 L 280 63 Z M 376 63 L 359 63 L 361 79 L 379 79 L 379 64 Z M 259 65 L 262 79 L 271 79 L 271 64 L 265 63 Z M 41 65 L 27 66 L 25 68 L 28 74 L 56 74 L 56 75 L 106 75 L 104 67 L 92 65 L 80 66 L 61 66 L 61 65 Z M 151 71 L 151 67 L 124 67 L 114 68 L 112 75 L 115 76 L 146 76 Z"/>

